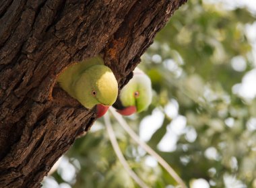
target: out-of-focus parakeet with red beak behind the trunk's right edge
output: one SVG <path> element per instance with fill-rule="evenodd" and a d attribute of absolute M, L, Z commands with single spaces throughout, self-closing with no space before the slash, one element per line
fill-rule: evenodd
<path fill-rule="evenodd" d="M 135 68 L 133 78 L 123 87 L 114 107 L 122 115 L 131 115 L 145 110 L 152 101 L 150 78 Z"/>

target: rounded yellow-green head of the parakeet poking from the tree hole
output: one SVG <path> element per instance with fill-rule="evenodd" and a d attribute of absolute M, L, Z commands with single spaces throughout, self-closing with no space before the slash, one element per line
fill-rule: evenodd
<path fill-rule="evenodd" d="M 75 98 L 88 109 L 100 105 L 97 110 L 105 113 L 115 103 L 118 95 L 118 84 L 115 75 L 102 64 L 90 66 L 75 84 Z M 103 115 L 104 115 L 103 113 Z M 98 114 L 98 117 L 102 114 Z"/>

